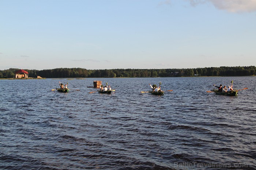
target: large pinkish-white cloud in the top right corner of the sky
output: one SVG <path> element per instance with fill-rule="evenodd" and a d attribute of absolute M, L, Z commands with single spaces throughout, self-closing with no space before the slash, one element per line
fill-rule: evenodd
<path fill-rule="evenodd" d="M 188 0 L 192 6 L 212 3 L 215 8 L 228 12 L 255 12 L 256 0 Z"/>

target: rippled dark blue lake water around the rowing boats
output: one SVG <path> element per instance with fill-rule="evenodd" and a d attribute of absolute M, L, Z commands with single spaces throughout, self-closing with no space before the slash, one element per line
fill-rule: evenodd
<path fill-rule="evenodd" d="M 116 91 L 89 93 L 94 80 Z M 231 80 L 248 89 L 206 92 Z M 59 81 L 73 90 L 51 91 Z M 163 96 L 140 93 L 159 82 Z M 0 80 L 0 169 L 256 169 L 255 85 L 256 77 Z"/>

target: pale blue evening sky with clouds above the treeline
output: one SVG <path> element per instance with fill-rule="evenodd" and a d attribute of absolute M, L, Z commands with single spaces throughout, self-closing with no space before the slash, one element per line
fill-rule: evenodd
<path fill-rule="evenodd" d="M 256 65 L 256 0 L 0 0 L 0 70 Z"/>

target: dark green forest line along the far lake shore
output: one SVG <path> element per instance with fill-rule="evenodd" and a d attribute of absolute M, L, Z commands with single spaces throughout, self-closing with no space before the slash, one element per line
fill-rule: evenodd
<path fill-rule="evenodd" d="M 18 68 L 0 70 L 0 78 L 14 78 Z M 255 66 L 205 67 L 182 69 L 105 69 L 87 70 L 85 68 L 55 68 L 49 70 L 27 70 L 29 78 L 115 78 L 115 77 L 191 77 L 191 76 L 252 76 Z"/>

